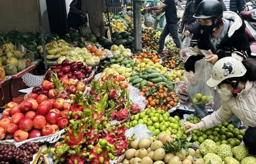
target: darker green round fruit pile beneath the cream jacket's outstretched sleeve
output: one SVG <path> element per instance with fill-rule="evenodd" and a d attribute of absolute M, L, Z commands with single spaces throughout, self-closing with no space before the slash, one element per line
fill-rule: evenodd
<path fill-rule="evenodd" d="M 201 120 L 197 117 L 193 117 L 193 119 L 188 117 L 187 121 L 196 124 Z M 203 128 L 202 131 L 194 130 L 192 132 L 192 141 L 197 145 L 200 145 L 205 139 L 211 139 L 216 142 L 216 145 L 227 144 L 231 147 L 240 145 L 244 135 L 243 130 L 235 129 L 234 125 L 228 122 L 224 122 L 213 128 Z"/>

